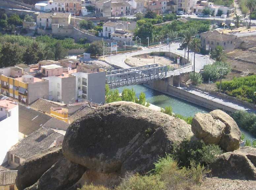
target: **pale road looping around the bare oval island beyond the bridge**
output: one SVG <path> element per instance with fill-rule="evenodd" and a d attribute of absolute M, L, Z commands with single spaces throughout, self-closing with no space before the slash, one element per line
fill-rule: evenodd
<path fill-rule="evenodd" d="M 177 48 L 179 48 L 179 43 L 171 44 L 170 52 L 184 56 L 184 50 L 178 50 Z M 123 54 L 117 54 L 117 55 L 110 55 L 110 56 L 105 57 L 105 60 L 110 62 L 112 65 L 116 65 L 121 68 L 130 68 L 130 66 L 126 65 L 124 62 L 126 58 L 133 56 L 133 55 L 150 53 L 150 52 L 159 51 L 159 50 L 160 50 L 159 46 L 154 47 L 154 48 L 143 48 L 143 50 L 141 50 L 141 51 L 135 51 L 135 52 L 123 53 Z M 161 51 L 169 52 L 169 46 L 168 45 L 161 46 Z M 186 55 L 187 55 L 187 53 L 186 53 Z M 192 53 L 190 53 L 189 59 L 191 59 L 191 57 L 193 58 L 193 61 L 194 61 L 194 54 L 192 55 Z M 195 61 L 196 61 L 195 71 L 197 71 L 197 72 L 199 72 L 200 69 L 203 69 L 204 65 L 213 63 L 213 61 L 208 56 L 201 55 L 198 53 L 196 53 Z M 179 73 L 184 73 L 184 72 L 188 72 L 191 70 L 192 70 L 192 65 L 185 67 L 185 68 L 181 68 L 180 70 L 177 69 L 175 71 L 170 71 L 170 72 L 168 72 L 168 75 L 179 75 Z"/>

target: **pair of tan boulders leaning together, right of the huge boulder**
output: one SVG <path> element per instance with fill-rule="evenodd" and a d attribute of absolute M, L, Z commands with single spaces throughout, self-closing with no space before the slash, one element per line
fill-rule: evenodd
<path fill-rule="evenodd" d="M 219 144 L 226 151 L 234 151 L 240 146 L 240 129 L 234 119 L 224 111 L 197 113 L 191 129 L 198 139 L 207 144 Z"/>

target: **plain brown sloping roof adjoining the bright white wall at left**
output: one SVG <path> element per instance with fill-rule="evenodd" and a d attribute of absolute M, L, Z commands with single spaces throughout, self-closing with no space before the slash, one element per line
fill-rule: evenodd
<path fill-rule="evenodd" d="M 24 135 L 30 135 L 35 132 L 50 118 L 50 116 L 42 112 L 19 104 L 19 132 Z"/>

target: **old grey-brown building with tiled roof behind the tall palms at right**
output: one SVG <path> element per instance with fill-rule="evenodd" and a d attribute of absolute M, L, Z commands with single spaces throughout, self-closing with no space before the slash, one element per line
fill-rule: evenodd
<path fill-rule="evenodd" d="M 216 30 L 201 33 L 199 36 L 202 48 L 205 50 L 214 50 L 216 46 L 222 46 L 224 51 L 229 52 L 235 49 L 237 37 L 220 33 Z"/>

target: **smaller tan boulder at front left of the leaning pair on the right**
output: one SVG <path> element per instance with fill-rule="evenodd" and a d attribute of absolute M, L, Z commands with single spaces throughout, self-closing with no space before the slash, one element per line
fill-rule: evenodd
<path fill-rule="evenodd" d="M 192 132 L 207 144 L 219 144 L 225 124 L 215 120 L 209 113 L 197 113 L 193 117 Z"/>

